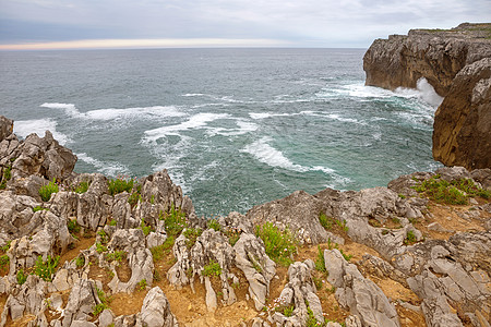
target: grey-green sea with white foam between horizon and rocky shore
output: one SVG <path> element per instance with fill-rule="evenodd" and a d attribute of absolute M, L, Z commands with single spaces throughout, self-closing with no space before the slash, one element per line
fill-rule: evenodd
<path fill-rule="evenodd" d="M 199 215 L 246 213 L 296 190 L 384 186 L 432 170 L 424 81 L 364 86 L 364 49 L 0 52 L 0 114 L 55 137 L 76 172 L 167 169 Z"/>

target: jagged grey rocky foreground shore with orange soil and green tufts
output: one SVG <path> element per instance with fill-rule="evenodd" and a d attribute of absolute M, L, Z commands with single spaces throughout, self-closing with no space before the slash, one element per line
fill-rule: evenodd
<path fill-rule="evenodd" d="M 0 117 L 0 326 L 489 326 L 490 169 L 206 220 L 165 170 L 79 174 L 49 132 L 12 124 Z"/>

